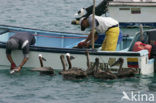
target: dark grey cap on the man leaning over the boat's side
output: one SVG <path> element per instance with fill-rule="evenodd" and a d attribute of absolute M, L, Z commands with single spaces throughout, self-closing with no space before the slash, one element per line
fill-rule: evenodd
<path fill-rule="evenodd" d="M 9 39 L 6 44 L 7 49 L 17 49 L 18 46 L 18 42 L 14 38 Z"/>

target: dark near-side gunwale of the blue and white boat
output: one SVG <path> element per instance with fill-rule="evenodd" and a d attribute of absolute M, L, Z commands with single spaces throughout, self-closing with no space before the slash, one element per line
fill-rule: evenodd
<path fill-rule="evenodd" d="M 0 48 L 6 48 L 6 43 L 0 43 Z M 71 54 L 85 54 L 89 51 L 91 55 L 100 56 L 141 56 L 139 52 L 132 51 L 97 51 L 96 49 L 80 49 L 80 48 L 56 48 L 56 47 L 41 47 L 41 46 L 30 46 L 30 51 L 35 52 L 47 52 L 47 53 L 71 53 Z"/>

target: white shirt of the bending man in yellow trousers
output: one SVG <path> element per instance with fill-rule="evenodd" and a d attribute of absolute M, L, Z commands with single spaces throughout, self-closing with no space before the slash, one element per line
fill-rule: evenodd
<path fill-rule="evenodd" d="M 111 17 L 95 16 L 95 19 L 99 23 L 99 25 L 95 24 L 95 29 L 99 34 L 105 33 L 109 27 L 119 24 L 118 21 Z M 92 26 L 92 15 L 89 16 L 88 21 L 89 25 Z"/>

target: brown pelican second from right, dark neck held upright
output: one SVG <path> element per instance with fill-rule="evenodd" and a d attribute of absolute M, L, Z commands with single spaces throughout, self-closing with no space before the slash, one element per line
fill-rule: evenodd
<path fill-rule="evenodd" d="M 102 71 L 99 67 L 99 58 L 95 59 L 94 77 L 99 79 L 116 79 L 116 75 L 111 72 Z"/>

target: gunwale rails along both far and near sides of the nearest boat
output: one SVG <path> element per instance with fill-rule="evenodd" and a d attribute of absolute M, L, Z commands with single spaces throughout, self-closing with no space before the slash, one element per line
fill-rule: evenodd
<path fill-rule="evenodd" d="M 33 29 L 33 28 L 25 28 L 25 27 L 18 27 L 18 26 L 9 26 L 9 25 L 0 25 L 0 28 L 9 29 L 9 30 L 17 30 L 23 29 L 23 31 L 31 32 L 43 32 L 43 33 L 62 33 L 61 35 L 66 34 L 75 34 L 75 35 L 81 35 L 80 33 L 68 33 L 68 32 L 58 32 L 58 31 L 48 31 L 48 30 L 41 30 L 41 29 Z M 66 33 L 66 34 L 63 34 Z M 86 36 L 86 35 L 82 35 Z M 0 42 L 0 48 L 6 48 L 6 43 Z M 91 55 L 108 55 L 108 56 L 121 56 L 121 51 L 97 51 L 93 49 L 80 49 L 80 48 L 57 48 L 57 47 L 43 47 L 43 46 L 30 46 L 30 51 L 38 51 L 38 52 L 47 52 L 47 53 L 74 53 L 74 54 L 84 54 L 88 50 Z M 122 53 L 122 56 L 141 56 L 139 52 L 132 52 L 132 51 L 126 51 Z"/>

